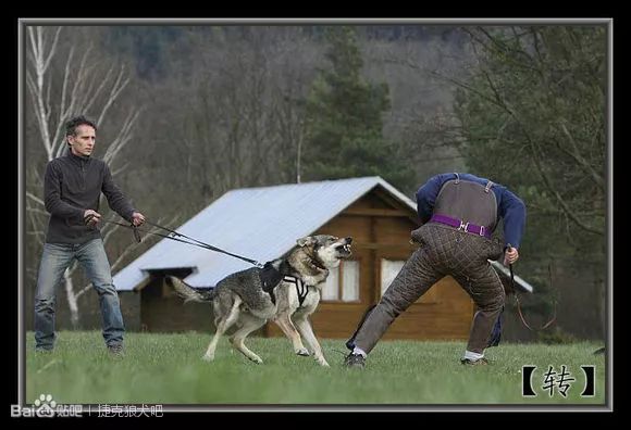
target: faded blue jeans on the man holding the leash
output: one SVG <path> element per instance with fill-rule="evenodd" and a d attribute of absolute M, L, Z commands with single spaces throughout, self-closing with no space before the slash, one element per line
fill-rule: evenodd
<path fill-rule="evenodd" d="M 123 343 L 125 327 L 119 294 L 112 283 L 110 263 L 102 239 L 94 239 L 82 244 L 44 244 L 35 292 L 35 347 L 37 350 L 52 350 L 54 346 L 54 290 L 74 258 L 82 264 L 99 294 L 106 344 L 113 346 Z"/>

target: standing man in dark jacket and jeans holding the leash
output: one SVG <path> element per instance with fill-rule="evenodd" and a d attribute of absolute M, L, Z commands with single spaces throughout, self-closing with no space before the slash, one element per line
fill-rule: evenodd
<path fill-rule="evenodd" d="M 84 116 L 67 122 L 69 150 L 46 166 L 44 194 L 50 219 L 35 293 L 36 351 L 54 347 L 54 289 L 74 260 L 83 265 L 99 295 L 108 350 L 115 355 L 123 351 L 121 305 L 98 229 L 101 192 L 110 207 L 135 226 L 140 226 L 145 216 L 119 190 L 106 163 L 90 156 L 96 130 L 97 126 Z"/>

